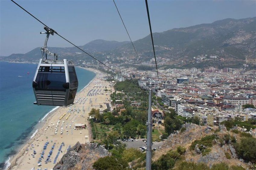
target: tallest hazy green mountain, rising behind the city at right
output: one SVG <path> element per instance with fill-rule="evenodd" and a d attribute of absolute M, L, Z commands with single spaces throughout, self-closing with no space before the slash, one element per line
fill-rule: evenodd
<path fill-rule="evenodd" d="M 214 62 L 210 56 L 216 56 L 218 61 L 224 58 L 229 63 L 244 63 L 245 60 L 255 62 L 256 17 L 224 19 L 210 24 L 171 29 L 153 33 L 153 39 L 156 56 L 170 65 L 200 65 L 201 60 Z M 144 61 L 152 59 L 150 36 L 135 41 L 134 45 Z M 134 55 L 129 45 L 122 46 L 115 52 L 120 51 L 125 51 L 126 55 Z"/>

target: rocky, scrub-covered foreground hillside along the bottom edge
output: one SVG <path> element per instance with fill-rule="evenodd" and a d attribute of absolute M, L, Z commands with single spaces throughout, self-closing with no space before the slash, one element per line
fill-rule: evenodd
<path fill-rule="evenodd" d="M 162 147 L 153 151 L 152 169 L 184 169 L 186 166 L 190 166 L 190 169 L 253 169 L 252 163 L 239 158 L 239 151 L 235 149 L 248 137 L 243 132 L 227 131 L 224 125 L 210 127 L 189 123 L 184 124 L 183 129 L 182 132 L 171 134 Z M 130 168 L 143 169 L 145 154 L 137 153 L 139 151 L 136 150 L 127 150 L 124 155 L 128 157 L 123 159 L 133 160 L 129 163 Z M 252 151 L 250 154 L 255 153 Z M 136 155 L 139 159 L 136 159 Z M 109 165 L 113 167 L 110 169 L 126 169 L 122 161 L 111 156 L 103 147 L 77 143 L 53 169 L 104 169 Z"/>

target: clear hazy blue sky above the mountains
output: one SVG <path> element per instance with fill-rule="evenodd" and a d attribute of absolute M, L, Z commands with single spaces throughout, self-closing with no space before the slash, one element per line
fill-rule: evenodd
<path fill-rule="evenodd" d="M 112 0 L 15 1 L 76 45 L 95 39 L 130 41 Z M 133 41 L 149 35 L 145 1 L 115 1 Z M 152 32 L 256 16 L 256 1 L 150 1 Z M 0 56 L 43 46 L 43 25 L 9 0 L 0 0 Z M 71 47 L 51 36 L 51 47 Z"/>

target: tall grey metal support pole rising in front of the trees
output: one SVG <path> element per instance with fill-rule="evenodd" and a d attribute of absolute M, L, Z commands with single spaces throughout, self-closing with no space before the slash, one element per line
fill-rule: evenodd
<path fill-rule="evenodd" d="M 149 110 L 148 110 L 148 133 L 147 133 L 147 150 L 146 150 L 146 170 L 151 170 L 151 144 L 152 144 L 152 111 L 151 111 L 151 104 L 152 104 L 152 85 L 151 82 L 149 83 Z"/>

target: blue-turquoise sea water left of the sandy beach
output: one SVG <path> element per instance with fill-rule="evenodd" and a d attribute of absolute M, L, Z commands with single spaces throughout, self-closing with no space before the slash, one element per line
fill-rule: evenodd
<path fill-rule="evenodd" d="M 36 68 L 37 64 L 0 62 L 0 169 L 35 135 L 35 126 L 56 109 L 33 104 L 32 81 Z M 78 67 L 75 70 L 78 91 L 81 91 L 96 74 Z"/>

